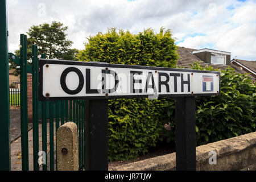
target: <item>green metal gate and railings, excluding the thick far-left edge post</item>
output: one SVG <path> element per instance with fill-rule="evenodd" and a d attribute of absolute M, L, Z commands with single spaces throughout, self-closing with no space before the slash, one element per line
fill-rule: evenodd
<path fill-rule="evenodd" d="M 9 53 L 9 59 L 20 65 L 20 128 L 22 145 L 22 170 L 29 169 L 28 159 L 28 103 L 27 73 L 32 73 L 32 132 L 33 167 L 39 166 L 39 146 L 46 154 L 42 169 L 57 170 L 56 131 L 65 122 L 77 124 L 79 142 L 79 170 L 84 169 L 84 101 L 38 101 L 38 47 L 32 46 L 32 67 L 27 64 L 27 36 L 20 35 L 20 57 Z M 46 58 L 45 54 L 41 58 Z M 40 123 L 40 124 L 39 124 Z M 42 126 L 42 143 L 39 143 L 39 125 Z M 49 131 L 49 150 L 47 149 L 47 131 Z"/>

